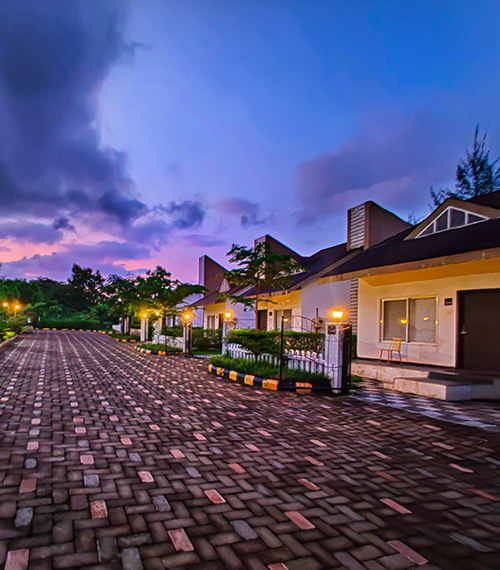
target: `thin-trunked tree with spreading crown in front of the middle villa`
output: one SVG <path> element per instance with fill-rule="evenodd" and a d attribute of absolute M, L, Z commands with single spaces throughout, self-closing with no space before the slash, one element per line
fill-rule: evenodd
<path fill-rule="evenodd" d="M 262 288 L 284 288 L 290 282 L 290 277 L 304 268 L 290 255 L 273 251 L 265 241 L 249 248 L 233 243 L 227 256 L 229 262 L 237 267 L 227 271 L 223 277 L 231 286 L 254 287 L 255 294 L 252 297 L 242 297 L 224 293 L 223 297 L 252 308 L 255 312 L 255 328 L 258 329 L 259 303 L 274 303 L 270 299 L 261 300 Z"/>

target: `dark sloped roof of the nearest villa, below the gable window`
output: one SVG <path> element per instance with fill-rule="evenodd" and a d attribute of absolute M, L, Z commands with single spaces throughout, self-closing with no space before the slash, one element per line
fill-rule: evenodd
<path fill-rule="evenodd" d="M 498 218 L 405 240 L 412 230 L 405 230 L 360 252 L 326 273 L 325 277 L 500 247 Z"/>

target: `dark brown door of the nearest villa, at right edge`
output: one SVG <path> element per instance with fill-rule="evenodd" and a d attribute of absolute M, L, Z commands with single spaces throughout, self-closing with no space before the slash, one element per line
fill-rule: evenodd
<path fill-rule="evenodd" d="M 458 295 L 458 367 L 500 372 L 500 289 Z"/>

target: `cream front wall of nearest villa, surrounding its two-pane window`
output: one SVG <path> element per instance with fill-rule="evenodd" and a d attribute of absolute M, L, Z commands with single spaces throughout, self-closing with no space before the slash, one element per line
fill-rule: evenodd
<path fill-rule="evenodd" d="M 382 342 L 380 311 L 382 299 L 437 296 L 436 343 L 403 343 L 401 355 L 406 362 L 436 366 L 456 366 L 458 304 L 457 292 L 474 289 L 500 288 L 500 273 L 460 275 L 443 279 L 413 281 L 394 285 L 373 286 L 359 280 L 358 356 L 379 358 Z M 453 305 L 445 306 L 444 299 L 452 298 Z"/>

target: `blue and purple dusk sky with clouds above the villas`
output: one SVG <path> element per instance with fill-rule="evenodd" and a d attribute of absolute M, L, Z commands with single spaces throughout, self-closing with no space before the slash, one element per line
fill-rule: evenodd
<path fill-rule="evenodd" d="M 301 255 L 346 209 L 403 219 L 500 154 L 500 3 L 0 0 L 0 276 L 66 279 L 270 234 Z"/>

